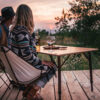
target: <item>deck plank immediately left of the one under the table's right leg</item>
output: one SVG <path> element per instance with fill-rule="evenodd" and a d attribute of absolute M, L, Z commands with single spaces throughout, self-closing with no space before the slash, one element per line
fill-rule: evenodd
<path fill-rule="evenodd" d="M 88 100 L 72 72 L 64 72 L 73 100 Z"/>

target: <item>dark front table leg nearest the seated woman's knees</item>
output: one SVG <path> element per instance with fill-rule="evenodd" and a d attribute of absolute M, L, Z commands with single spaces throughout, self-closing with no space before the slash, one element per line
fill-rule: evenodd
<path fill-rule="evenodd" d="M 61 59 L 58 56 L 58 97 L 61 100 Z"/>

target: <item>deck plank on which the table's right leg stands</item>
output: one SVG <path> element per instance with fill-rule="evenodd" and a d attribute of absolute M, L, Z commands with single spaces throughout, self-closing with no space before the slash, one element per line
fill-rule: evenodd
<path fill-rule="evenodd" d="M 90 80 L 85 76 L 83 71 L 74 71 L 79 83 L 81 84 L 83 90 L 87 94 L 90 100 L 100 100 L 100 92 L 94 87 L 94 91 L 91 92 Z"/>

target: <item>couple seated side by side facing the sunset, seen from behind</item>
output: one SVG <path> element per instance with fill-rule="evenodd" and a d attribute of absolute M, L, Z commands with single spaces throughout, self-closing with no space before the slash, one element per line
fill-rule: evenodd
<path fill-rule="evenodd" d="M 3 8 L 1 14 L 0 45 L 8 45 L 13 52 L 26 62 L 39 70 L 46 71 L 34 85 L 27 85 L 23 95 L 26 96 L 27 100 L 42 98 L 37 92 L 53 77 L 56 68 L 52 62 L 41 61 L 37 57 L 35 41 L 31 36 L 34 30 L 32 11 L 27 5 L 21 4 L 17 8 L 16 14 L 12 7 Z M 12 27 L 9 32 L 9 26 L 11 24 Z M 30 88 L 30 86 L 32 86 L 32 88 Z"/>

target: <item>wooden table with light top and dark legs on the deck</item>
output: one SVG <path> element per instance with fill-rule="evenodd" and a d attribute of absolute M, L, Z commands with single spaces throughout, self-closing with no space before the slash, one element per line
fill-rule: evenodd
<path fill-rule="evenodd" d="M 91 84 L 91 91 L 93 91 L 93 75 L 92 75 L 92 60 L 91 60 L 91 52 L 97 51 L 97 48 L 84 48 L 84 47 L 71 47 L 66 46 L 66 48 L 60 48 L 55 50 L 47 50 L 43 48 L 44 46 L 40 46 L 40 51 L 38 53 L 50 55 L 51 60 L 54 62 L 52 56 L 57 56 L 57 67 L 58 67 L 58 96 L 59 100 L 61 100 L 61 67 L 64 63 L 68 60 L 69 56 L 72 54 L 80 54 L 83 53 L 85 57 L 89 61 L 89 70 L 90 70 L 90 84 Z M 62 47 L 62 46 L 59 46 Z M 63 46 L 65 47 L 65 46 Z M 88 55 L 86 55 L 88 53 Z M 67 58 L 61 64 L 61 56 L 68 55 Z"/>

